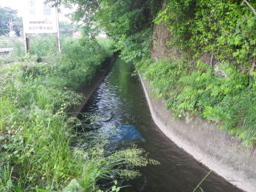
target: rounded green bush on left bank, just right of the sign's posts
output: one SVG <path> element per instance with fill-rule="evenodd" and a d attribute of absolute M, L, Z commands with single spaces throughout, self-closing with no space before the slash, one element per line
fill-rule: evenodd
<path fill-rule="evenodd" d="M 105 50 L 96 39 L 67 39 L 63 43 L 57 73 L 66 77 L 65 86 L 77 89 L 79 85 L 88 85 L 105 56 Z"/>

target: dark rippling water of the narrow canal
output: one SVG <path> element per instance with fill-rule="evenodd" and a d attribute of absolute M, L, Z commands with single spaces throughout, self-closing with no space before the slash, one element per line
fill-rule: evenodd
<path fill-rule="evenodd" d="M 131 64 L 116 59 L 110 73 L 82 112 L 101 116 L 98 122 L 101 126 L 133 125 L 145 139 L 145 142 L 137 144 L 138 147 L 160 162 L 160 165 L 142 168 L 142 176 L 129 181 L 131 187 L 123 191 L 193 191 L 209 170 L 178 148 L 157 128 L 151 118 L 140 80 L 137 76 L 131 76 L 133 70 Z M 201 188 L 204 192 L 239 191 L 215 173 L 209 175 Z"/>

